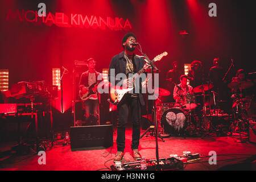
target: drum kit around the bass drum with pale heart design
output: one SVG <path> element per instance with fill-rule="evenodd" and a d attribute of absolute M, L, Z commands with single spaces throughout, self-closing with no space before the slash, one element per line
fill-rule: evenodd
<path fill-rule="evenodd" d="M 156 102 L 156 118 L 160 121 L 158 122 L 159 133 L 174 137 L 185 137 L 188 135 L 199 135 L 202 132 L 212 132 L 214 126 L 210 123 L 209 116 L 229 116 L 228 114 L 224 114 L 224 111 L 217 109 L 217 93 L 210 91 L 212 88 L 213 85 L 210 83 L 195 87 L 193 94 L 187 93 L 184 96 L 185 104 L 182 105 L 177 105 L 174 102 Z M 170 95 L 168 90 L 159 89 L 159 96 L 168 95 Z M 216 106 L 214 110 L 210 109 L 210 104 L 207 105 L 206 96 L 213 98 L 214 105 Z M 210 110 L 208 113 L 207 107 Z"/>

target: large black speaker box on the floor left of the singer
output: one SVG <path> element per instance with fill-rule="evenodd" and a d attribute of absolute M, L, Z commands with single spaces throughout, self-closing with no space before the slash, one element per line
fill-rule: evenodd
<path fill-rule="evenodd" d="M 71 151 L 99 150 L 113 146 L 113 125 L 71 127 Z"/>

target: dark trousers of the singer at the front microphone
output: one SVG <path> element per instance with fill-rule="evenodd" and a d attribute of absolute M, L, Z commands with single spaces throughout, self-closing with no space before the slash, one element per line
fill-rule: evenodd
<path fill-rule="evenodd" d="M 138 149 L 141 135 L 141 104 L 139 103 L 139 98 L 127 96 L 125 101 L 117 106 L 117 150 L 122 152 L 125 150 L 125 128 L 128 121 L 129 107 L 133 123 L 132 150 Z"/>

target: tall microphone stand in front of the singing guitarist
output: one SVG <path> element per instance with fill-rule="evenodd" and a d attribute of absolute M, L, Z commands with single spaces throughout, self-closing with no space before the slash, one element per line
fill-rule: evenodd
<path fill-rule="evenodd" d="M 141 46 L 141 45 L 139 45 Z M 137 48 L 137 47 L 136 47 Z M 138 48 L 137 48 L 138 49 Z M 154 85 L 155 85 L 155 78 L 154 78 L 154 70 L 155 72 L 158 72 L 159 69 L 156 68 L 156 66 L 151 62 L 151 60 L 147 57 L 147 55 L 145 53 L 142 52 L 141 49 L 138 49 L 139 52 L 141 52 L 141 54 L 143 55 L 143 57 L 147 60 L 147 63 L 150 64 L 151 66 L 151 72 L 152 72 L 152 89 L 154 90 Z M 155 94 L 155 91 L 154 91 Z M 155 99 L 153 100 L 152 103 L 153 109 L 152 109 L 152 119 L 154 121 L 154 125 L 155 125 L 155 144 L 156 144 L 156 170 L 160 170 L 160 166 L 159 166 L 159 152 L 158 152 L 158 121 L 156 119 L 156 105 L 155 105 Z"/>

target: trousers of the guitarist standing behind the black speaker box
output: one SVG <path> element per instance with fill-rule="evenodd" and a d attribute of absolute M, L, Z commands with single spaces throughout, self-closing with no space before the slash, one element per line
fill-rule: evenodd
<path fill-rule="evenodd" d="M 84 103 L 86 125 L 96 125 L 98 121 L 98 100 L 88 99 Z"/>

